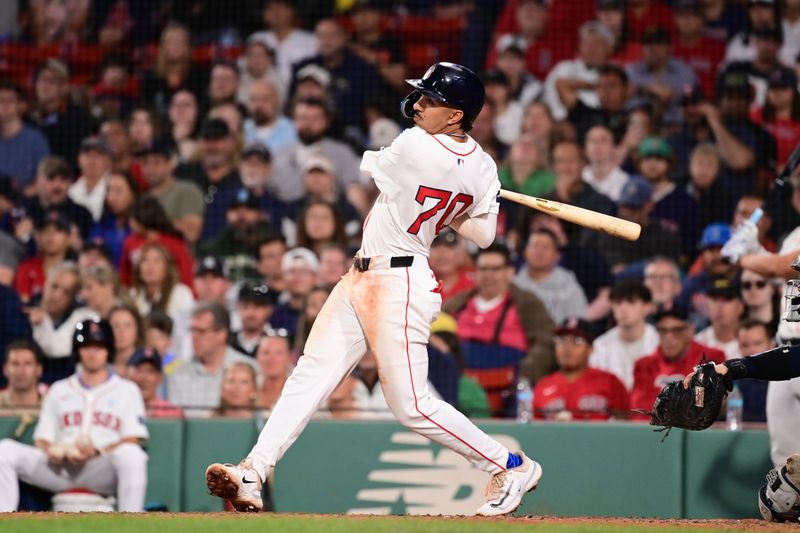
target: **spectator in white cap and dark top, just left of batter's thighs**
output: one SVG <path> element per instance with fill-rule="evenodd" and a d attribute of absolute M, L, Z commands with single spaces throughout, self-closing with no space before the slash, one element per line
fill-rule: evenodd
<path fill-rule="evenodd" d="M 305 298 L 317 283 L 319 259 L 308 248 L 294 248 L 283 255 L 281 269 L 285 290 L 270 323 L 273 328 L 283 328 L 294 337 Z"/>

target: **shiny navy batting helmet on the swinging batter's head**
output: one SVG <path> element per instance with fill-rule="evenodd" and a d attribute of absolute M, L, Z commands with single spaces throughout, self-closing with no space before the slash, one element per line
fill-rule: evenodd
<path fill-rule="evenodd" d="M 464 113 L 461 121 L 464 131 L 472 129 L 472 123 L 481 112 L 486 99 L 486 90 L 478 75 L 455 63 L 435 63 L 422 78 L 406 80 L 406 83 L 415 89 L 401 104 L 406 118 L 414 117 L 414 104 L 422 96 L 427 96 L 448 107 L 461 110 Z"/>

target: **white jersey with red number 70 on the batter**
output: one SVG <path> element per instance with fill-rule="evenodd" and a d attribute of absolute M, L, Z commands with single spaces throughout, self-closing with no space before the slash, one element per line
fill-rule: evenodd
<path fill-rule="evenodd" d="M 428 256 L 434 237 L 453 219 L 497 214 L 497 166 L 471 137 L 460 143 L 422 128 L 391 146 L 364 152 L 361 170 L 380 191 L 364 222 L 360 255 Z"/>

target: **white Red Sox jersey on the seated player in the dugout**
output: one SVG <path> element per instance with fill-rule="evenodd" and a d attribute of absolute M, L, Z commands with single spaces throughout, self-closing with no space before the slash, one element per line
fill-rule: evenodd
<path fill-rule="evenodd" d="M 146 439 L 144 401 L 135 383 L 111 374 L 88 388 L 77 374 L 57 381 L 42 401 L 34 440 L 74 444 L 89 439 L 103 449 L 123 438 Z"/>

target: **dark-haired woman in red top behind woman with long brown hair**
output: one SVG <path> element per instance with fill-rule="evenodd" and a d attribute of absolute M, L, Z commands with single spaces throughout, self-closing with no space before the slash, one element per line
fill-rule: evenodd
<path fill-rule="evenodd" d="M 169 250 L 169 262 L 178 270 L 180 282 L 192 284 L 192 256 L 183 236 L 172 226 L 158 200 L 151 196 L 137 199 L 131 209 L 130 226 L 132 231 L 122 245 L 119 264 L 119 280 L 124 285 L 132 286 L 133 269 L 141 255 L 141 247 L 153 242 Z"/>

